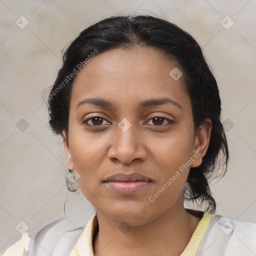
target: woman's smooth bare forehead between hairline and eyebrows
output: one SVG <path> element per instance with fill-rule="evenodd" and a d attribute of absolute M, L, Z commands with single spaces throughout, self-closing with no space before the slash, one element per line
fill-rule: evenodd
<path fill-rule="evenodd" d="M 86 97 L 106 98 L 116 105 L 163 96 L 182 102 L 188 99 L 184 80 L 170 76 L 173 68 L 181 69 L 177 61 L 150 47 L 99 52 L 74 78 L 70 107 Z"/>

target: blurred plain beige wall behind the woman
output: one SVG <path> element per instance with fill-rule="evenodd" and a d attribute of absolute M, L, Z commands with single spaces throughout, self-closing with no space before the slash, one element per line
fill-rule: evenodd
<path fill-rule="evenodd" d="M 79 194 L 67 192 L 64 151 L 47 127 L 41 94 L 55 79 L 61 49 L 88 25 L 117 14 L 168 19 L 203 47 L 218 81 L 222 120 L 233 123 L 227 173 L 212 185 L 216 213 L 256 222 L 255 6 L 255 0 L 1 0 L 0 252 L 20 237 L 21 220 L 30 230 L 64 216 L 65 200 L 73 221 L 85 223 L 93 213 Z M 15 24 L 21 15 L 29 21 L 24 29 Z M 234 21 L 229 29 L 220 23 L 226 15 Z M 16 127 L 21 118 L 28 123 L 23 131 Z"/>

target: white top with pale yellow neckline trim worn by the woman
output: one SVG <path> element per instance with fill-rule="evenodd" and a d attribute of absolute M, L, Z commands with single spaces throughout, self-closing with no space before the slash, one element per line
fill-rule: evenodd
<path fill-rule="evenodd" d="M 24 233 L 2 256 L 94 256 L 94 230 L 98 230 L 95 214 L 85 227 L 72 227 L 68 219 L 59 219 Z M 255 256 L 256 223 L 204 212 L 180 256 L 222 255 Z"/>

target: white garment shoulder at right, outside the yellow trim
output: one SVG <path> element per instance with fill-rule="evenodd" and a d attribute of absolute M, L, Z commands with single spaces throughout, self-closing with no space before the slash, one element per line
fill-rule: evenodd
<path fill-rule="evenodd" d="M 211 214 L 198 253 L 235 256 L 256 253 L 256 223 Z M 199 255 L 199 254 L 196 255 Z M 215 254 L 214 254 L 215 255 Z"/>

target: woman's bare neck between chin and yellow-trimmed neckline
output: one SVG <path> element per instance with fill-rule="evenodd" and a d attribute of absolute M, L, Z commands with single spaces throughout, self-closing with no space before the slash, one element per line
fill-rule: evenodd
<path fill-rule="evenodd" d="M 93 254 L 100 256 L 180 255 L 189 242 L 200 217 L 189 214 L 183 204 L 139 225 L 127 225 L 108 218 L 96 210 L 99 230 L 93 241 Z"/>

